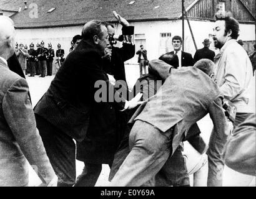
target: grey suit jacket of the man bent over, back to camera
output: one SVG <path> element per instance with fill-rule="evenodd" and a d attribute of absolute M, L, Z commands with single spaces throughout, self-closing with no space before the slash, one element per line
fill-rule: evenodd
<path fill-rule="evenodd" d="M 153 60 L 150 64 L 157 67 L 166 63 Z M 216 130 L 214 137 L 219 137 L 225 144 L 229 129 L 222 108 L 222 98 L 218 86 L 201 70 L 194 67 L 180 70 L 173 68 L 164 85 L 147 102 L 144 110 L 135 120 L 140 119 L 152 124 L 162 132 L 174 127 L 172 139 L 172 153 L 174 153 L 180 142 L 189 136 L 187 133 L 190 127 L 209 113 Z M 214 147 L 210 150 L 215 151 Z M 218 152 L 222 150 L 223 148 Z"/>

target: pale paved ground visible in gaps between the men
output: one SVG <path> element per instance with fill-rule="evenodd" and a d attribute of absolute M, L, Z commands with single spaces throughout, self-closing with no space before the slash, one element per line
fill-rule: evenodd
<path fill-rule="evenodd" d="M 127 82 L 129 87 L 132 87 L 139 78 L 139 66 L 138 65 L 126 65 L 126 75 Z M 29 83 L 29 89 L 31 91 L 32 105 L 34 106 L 37 101 L 42 97 L 44 92 L 49 88 L 49 85 L 54 78 L 54 76 L 46 76 L 45 78 L 29 77 L 27 76 L 27 81 Z M 250 106 L 252 110 L 255 111 L 255 77 L 250 86 L 251 100 Z M 212 121 L 209 118 L 209 115 L 199 121 L 199 127 L 201 129 L 202 137 L 205 141 L 209 141 L 210 131 L 212 130 Z M 77 160 L 76 172 L 77 175 L 81 174 L 83 168 L 83 163 Z M 109 166 L 103 165 L 101 175 L 96 183 L 97 186 L 104 186 L 104 183 L 107 182 L 107 177 L 109 175 Z M 40 183 L 39 178 L 30 170 L 29 184 L 31 186 L 38 185 Z M 250 177 L 248 175 L 239 174 L 228 167 L 224 169 L 224 186 L 234 186 L 234 187 L 244 187 L 244 186 L 255 186 L 255 177 Z"/>

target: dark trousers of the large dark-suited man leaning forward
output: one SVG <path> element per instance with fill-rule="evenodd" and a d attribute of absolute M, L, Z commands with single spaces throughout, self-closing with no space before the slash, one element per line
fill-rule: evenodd
<path fill-rule="evenodd" d="M 71 187 L 76 182 L 76 144 L 72 137 L 57 129 L 41 116 L 36 116 L 37 129 L 47 156 L 57 175 L 58 187 Z"/>

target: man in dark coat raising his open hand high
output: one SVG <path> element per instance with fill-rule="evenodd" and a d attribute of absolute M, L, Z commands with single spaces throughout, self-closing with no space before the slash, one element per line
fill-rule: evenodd
<path fill-rule="evenodd" d="M 111 54 L 107 53 L 103 58 L 104 70 L 106 69 L 106 65 L 108 65 L 116 81 L 119 81 L 121 86 L 124 86 L 124 88 L 128 90 L 124 62 L 134 57 L 135 45 L 134 41 L 131 40 L 134 34 L 134 26 L 130 26 L 129 22 L 115 11 L 114 14 L 116 14 L 117 20 L 120 21 L 120 24 L 123 26 L 122 36 L 124 37 L 124 42 L 122 48 L 114 46 L 114 42 L 116 42 L 116 40 L 114 40 L 115 29 L 112 24 L 107 23 L 107 30 L 110 36 L 109 42 L 111 42 Z M 114 153 L 122 138 L 122 129 L 126 126 L 126 112 L 117 110 L 114 118 L 116 118 L 117 131 L 102 131 L 101 134 L 91 134 L 90 139 L 77 142 L 77 160 L 84 162 L 84 170 L 82 174 L 77 177 L 75 186 L 94 186 L 97 182 L 97 178 L 99 178 L 101 174 L 102 164 L 109 164 L 111 167 Z M 96 154 L 100 154 L 101 158 Z"/>

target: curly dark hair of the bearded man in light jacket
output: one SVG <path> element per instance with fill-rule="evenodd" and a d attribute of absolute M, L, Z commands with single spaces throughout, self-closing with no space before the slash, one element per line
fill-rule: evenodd
<path fill-rule="evenodd" d="M 232 17 L 231 12 L 219 11 L 216 12 L 215 21 L 225 21 L 225 35 L 232 30 L 230 37 L 237 39 L 239 37 L 239 22 Z"/>

